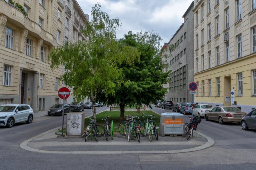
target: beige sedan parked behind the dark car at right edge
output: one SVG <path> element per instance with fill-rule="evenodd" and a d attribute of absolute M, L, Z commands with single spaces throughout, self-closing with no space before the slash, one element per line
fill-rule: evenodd
<path fill-rule="evenodd" d="M 241 122 L 241 119 L 246 115 L 236 107 L 223 106 L 215 107 L 210 112 L 205 113 L 205 120 L 219 121 L 220 124 L 226 122 Z"/>

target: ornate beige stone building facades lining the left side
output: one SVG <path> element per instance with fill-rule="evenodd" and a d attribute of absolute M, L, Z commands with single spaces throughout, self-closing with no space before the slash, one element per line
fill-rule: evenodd
<path fill-rule="evenodd" d="M 50 49 L 86 41 L 80 29 L 89 16 L 76 0 L 14 1 L 26 13 L 0 0 L 0 104 L 27 103 L 34 112 L 47 111 L 60 102 L 57 91 L 64 86 L 58 82 L 64 69 L 50 69 Z"/>

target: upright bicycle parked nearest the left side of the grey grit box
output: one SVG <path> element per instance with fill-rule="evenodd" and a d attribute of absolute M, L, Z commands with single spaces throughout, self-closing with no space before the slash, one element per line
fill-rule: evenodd
<path fill-rule="evenodd" d="M 153 140 L 153 135 L 155 135 L 156 140 L 158 140 L 158 132 L 156 129 L 155 121 L 152 121 L 152 119 L 155 119 L 154 115 L 144 115 L 147 117 L 146 125 L 145 125 L 145 130 L 146 130 L 146 135 L 149 136 L 149 141 Z M 150 118 L 151 117 L 151 118 Z M 149 120 L 150 119 L 150 120 Z"/>

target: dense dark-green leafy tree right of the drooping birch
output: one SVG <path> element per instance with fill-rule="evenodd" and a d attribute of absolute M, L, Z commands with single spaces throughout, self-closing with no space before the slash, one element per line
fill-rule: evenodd
<path fill-rule="evenodd" d="M 153 32 L 137 34 L 128 32 L 119 41 L 137 48 L 140 52 L 138 60 L 133 64 L 127 65 L 125 62 L 118 64 L 123 72 L 123 76 L 119 77 L 121 85 L 115 86 L 115 93 L 107 98 L 108 104 L 120 105 L 120 121 L 124 119 L 126 104 L 150 105 L 162 99 L 167 92 L 162 84 L 168 82 L 170 70 L 167 71 L 167 65 L 162 62 L 160 40 L 160 36 Z"/>

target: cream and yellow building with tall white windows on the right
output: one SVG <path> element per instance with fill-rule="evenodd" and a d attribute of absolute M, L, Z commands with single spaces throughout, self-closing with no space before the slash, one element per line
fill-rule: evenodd
<path fill-rule="evenodd" d="M 256 108 L 256 1 L 194 3 L 196 103 Z"/>

